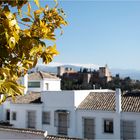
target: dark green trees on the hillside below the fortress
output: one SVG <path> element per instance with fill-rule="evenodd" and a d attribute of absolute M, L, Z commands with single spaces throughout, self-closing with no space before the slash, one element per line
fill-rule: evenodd
<path fill-rule="evenodd" d="M 93 74 L 94 72 L 92 72 Z M 140 81 L 132 80 L 130 77 L 120 78 L 119 76 L 112 77 L 112 80 L 107 82 L 106 78 L 99 78 L 92 75 L 89 83 L 84 81 L 85 70 L 80 70 L 75 76 L 63 75 L 61 78 L 61 88 L 63 90 L 82 90 L 82 89 L 112 89 L 120 88 L 122 91 L 140 90 Z"/>

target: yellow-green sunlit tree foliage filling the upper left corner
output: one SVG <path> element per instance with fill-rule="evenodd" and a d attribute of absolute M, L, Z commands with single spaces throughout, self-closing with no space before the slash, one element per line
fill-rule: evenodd
<path fill-rule="evenodd" d="M 55 30 L 62 31 L 62 25 L 67 25 L 65 14 L 58 9 L 57 1 L 53 8 L 41 7 L 38 0 L 34 2 L 35 11 L 28 0 L 0 1 L 0 103 L 23 93 L 17 80 L 35 67 L 39 58 L 47 64 L 58 54 Z M 27 7 L 26 13 L 23 6 Z M 51 40 L 54 45 L 46 46 L 44 40 Z"/>

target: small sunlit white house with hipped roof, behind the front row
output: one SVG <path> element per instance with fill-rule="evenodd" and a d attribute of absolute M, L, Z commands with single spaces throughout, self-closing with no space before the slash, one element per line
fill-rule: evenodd
<path fill-rule="evenodd" d="M 30 91 L 59 91 L 61 90 L 60 82 L 60 78 L 42 71 L 26 74 L 19 80 L 19 83 L 25 86 L 25 94 Z"/>

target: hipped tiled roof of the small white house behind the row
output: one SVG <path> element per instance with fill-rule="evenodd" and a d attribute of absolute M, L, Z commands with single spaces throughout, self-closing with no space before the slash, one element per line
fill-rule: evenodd
<path fill-rule="evenodd" d="M 28 80 L 42 80 L 42 79 L 45 79 L 45 78 L 48 78 L 48 79 L 59 79 L 58 77 L 56 77 L 56 76 L 54 76 L 52 74 L 45 73 L 45 72 L 42 72 L 42 71 L 30 73 L 28 75 Z"/>

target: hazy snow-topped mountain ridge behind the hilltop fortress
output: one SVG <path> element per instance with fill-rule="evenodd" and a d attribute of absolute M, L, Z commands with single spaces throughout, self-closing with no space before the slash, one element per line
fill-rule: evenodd
<path fill-rule="evenodd" d="M 63 66 L 65 68 L 70 67 L 75 71 L 80 71 L 80 68 L 98 70 L 100 67 L 99 65 L 96 65 L 96 64 L 66 64 L 66 63 L 53 62 L 53 63 L 50 63 L 48 65 L 38 64 L 36 66 L 36 68 L 33 68 L 31 71 L 40 70 L 40 71 L 45 71 L 45 72 L 50 72 L 50 73 L 57 73 L 58 66 Z M 129 76 L 131 79 L 140 80 L 140 71 L 138 71 L 138 70 L 112 68 L 112 69 L 110 69 L 110 71 L 111 71 L 113 76 L 115 76 L 116 74 L 119 74 L 120 77 L 122 77 L 122 78 Z"/>

